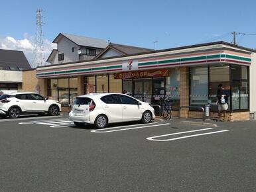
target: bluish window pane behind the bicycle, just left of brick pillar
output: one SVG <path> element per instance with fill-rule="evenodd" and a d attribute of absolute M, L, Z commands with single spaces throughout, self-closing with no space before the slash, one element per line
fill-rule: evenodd
<path fill-rule="evenodd" d="M 180 70 L 171 69 L 170 75 L 166 77 L 166 97 L 172 102 L 172 109 L 178 110 L 180 107 Z"/>

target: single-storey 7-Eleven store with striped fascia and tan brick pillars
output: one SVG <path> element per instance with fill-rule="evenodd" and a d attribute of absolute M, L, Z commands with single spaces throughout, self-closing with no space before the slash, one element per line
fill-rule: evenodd
<path fill-rule="evenodd" d="M 171 97 L 174 115 L 180 106 L 204 107 L 207 103 L 212 103 L 211 115 L 215 115 L 216 92 L 222 83 L 231 93 L 229 118 L 247 120 L 256 111 L 256 90 L 249 83 L 256 78 L 255 52 L 227 42 L 156 51 L 109 43 L 91 60 L 40 67 L 34 75 L 40 93 L 63 106 L 76 95 L 125 90 L 151 104 Z M 202 115 L 186 109 L 181 113 L 182 117 Z"/>

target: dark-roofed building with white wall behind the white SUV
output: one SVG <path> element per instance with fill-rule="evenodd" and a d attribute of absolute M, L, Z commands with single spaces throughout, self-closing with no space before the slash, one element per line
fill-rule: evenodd
<path fill-rule="evenodd" d="M 21 91 L 23 70 L 31 70 L 31 66 L 22 51 L 0 49 L 0 91 Z"/>

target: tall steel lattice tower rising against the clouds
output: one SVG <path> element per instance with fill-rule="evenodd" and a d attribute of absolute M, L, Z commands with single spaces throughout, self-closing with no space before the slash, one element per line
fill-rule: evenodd
<path fill-rule="evenodd" d="M 38 66 L 45 65 L 44 62 L 44 53 L 43 53 L 43 36 L 42 36 L 42 12 L 44 10 L 37 9 L 36 10 L 36 42 L 34 43 L 34 50 L 33 50 L 33 60 L 32 60 L 32 67 L 36 68 Z"/>

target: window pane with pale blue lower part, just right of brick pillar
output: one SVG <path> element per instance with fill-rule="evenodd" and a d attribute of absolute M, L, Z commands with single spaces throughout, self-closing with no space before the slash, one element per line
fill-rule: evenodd
<path fill-rule="evenodd" d="M 208 103 L 208 67 L 190 68 L 190 105 Z"/>

